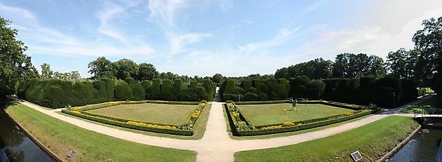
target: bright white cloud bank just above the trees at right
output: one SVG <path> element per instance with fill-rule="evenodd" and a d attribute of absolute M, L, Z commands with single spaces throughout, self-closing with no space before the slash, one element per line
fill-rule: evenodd
<path fill-rule="evenodd" d="M 361 29 L 341 29 L 337 31 L 319 32 L 314 39 L 295 50 L 307 57 L 334 57 L 339 53 L 369 53 L 385 58 L 389 51 L 399 48 L 413 48 L 413 34 L 421 29 L 422 20 L 439 17 L 442 8 L 425 11 L 418 18 L 403 19 L 401 27 L 389 29 L 391 25 L 374 23 Z M 382 21 L 382 20 L 381 20 Z"/>

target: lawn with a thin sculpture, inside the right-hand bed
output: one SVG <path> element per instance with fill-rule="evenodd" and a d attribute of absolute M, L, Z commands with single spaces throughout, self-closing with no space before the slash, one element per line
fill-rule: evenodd
<path fill-rule="evenodd" d="M 243 104 L 238 105 L 241 114 L 254 126 L 304 121 L 326 116 L 354 112 L 351 109 L 331 107 L 324 104 L 298 104 L 297 112 L 286 111 L 291 104 Z"/>

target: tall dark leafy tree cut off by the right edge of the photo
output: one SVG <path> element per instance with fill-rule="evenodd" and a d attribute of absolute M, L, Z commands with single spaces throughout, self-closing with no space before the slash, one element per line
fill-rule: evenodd
<path fill-rule="evenodd" d="M 422 22 L 424 29 L 417 30 L 413 42 L 421 52 L 422 60 L 427 60 L 427 78 L 435 90 L 442 90 L 442 17 L 430 18 Z M 440 91 L 439 91 L 440 93 Z"/>

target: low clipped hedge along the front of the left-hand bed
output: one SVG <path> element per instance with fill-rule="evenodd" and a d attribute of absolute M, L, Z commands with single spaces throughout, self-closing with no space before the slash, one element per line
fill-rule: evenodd
<path fill-rule="evenodd" d="M 165 129 L 165 128 L 153 128 L 153 127 L 148 127 L 148 126 L 137 126 L 137 125 L 133 125 L 133 124 L 129 124 L 129 123 L 125 123 L 125 122 L 121 122 L 121 121 L 114 121 L 112 119 L 107 119 L 107 118 L 100 118 L 97 116 L 89 116 L 86 114 L 77 114 L 71 111 L 67 111 L 65 109 L 62 110 L 62 112 L 66 113 L 66 114 L 70 114 L 73 116 L 78 116 L 81 117 L 83 119 L 88 119 L 91 121 L 98 121 L 100 123 L 107 123 L 113 126 L 121 126 L 124 128 L 132 128 L 132 129 L 136 129 L 136 130 L 145 130 L 145 131 L 149 131 L 149 132 L 154 132 L 154 133 L 166 133 L 166 134 L 170 134 L 170 135 L 194 135 L 194 131 L 193 130 L 178 130 L 178 129 Z"/>

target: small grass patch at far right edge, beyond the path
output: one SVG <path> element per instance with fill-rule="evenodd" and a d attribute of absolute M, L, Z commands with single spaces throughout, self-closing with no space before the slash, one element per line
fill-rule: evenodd
<path fill-rule="evenodd" d="M 432 97 L 425 102 L 403 109 L 402 112 L 408 114 L 442 114 L 442 102 L 440 98 Z"/>

